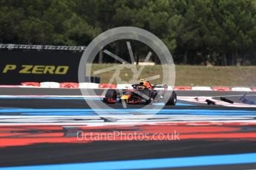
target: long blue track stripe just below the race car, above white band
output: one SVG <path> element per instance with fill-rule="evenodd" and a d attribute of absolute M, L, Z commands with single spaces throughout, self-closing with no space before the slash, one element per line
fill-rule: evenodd
<path fill-rule="evenodd" d="M 141 112 L 145 115 L 229 115 L 255 116 L 256 111 L 246 110 L 209 110 L 209 109 L 162 109 L 157 114 L 154 109 L 0 109 L 0 115 L 18 113 L 20 115 L 133 115 L 131 112 Z"/>

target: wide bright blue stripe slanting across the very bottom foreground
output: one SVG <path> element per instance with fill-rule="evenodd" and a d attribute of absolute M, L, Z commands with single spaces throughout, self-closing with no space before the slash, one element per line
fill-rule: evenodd
<path fill-rule="evenodd" d="M 256 163 L 256 153 L 249 154 L 225 154 L 197 157 L 171 157 L 145 160 L 120 160 L 96 163 L 67 163 L 45 166 L 16 166 L 1 169 L 23 170 L 23 169 L 161 169 L 178 168 L 190 166 L 220 166 L 231 164 Z"/>

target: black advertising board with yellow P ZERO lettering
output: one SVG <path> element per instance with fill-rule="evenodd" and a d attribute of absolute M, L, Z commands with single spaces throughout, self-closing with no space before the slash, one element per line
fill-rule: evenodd
<path fill-rule="evenodd" d="M 0 84 L 78 82 L 82 52 L 0 50 Z"/>

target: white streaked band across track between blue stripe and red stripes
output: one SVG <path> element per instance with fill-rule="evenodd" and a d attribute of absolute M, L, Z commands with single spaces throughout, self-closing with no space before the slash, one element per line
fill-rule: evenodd
<path fill-rule="evenodd" d="M 256 123 L 256 116 L 204 116 L 204 115 L 130 115 L 104 116 L 116 121 L 105 122 L 102 116 L 1 116 L 0 126 L 6 125 L 72 125 L 72 126 L 108 126 L 132 123 Z"/>

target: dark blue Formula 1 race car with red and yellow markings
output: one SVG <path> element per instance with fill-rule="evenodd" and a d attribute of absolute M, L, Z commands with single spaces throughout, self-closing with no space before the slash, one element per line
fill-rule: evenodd
<path fill-rule="evenodd" d="M 108 89 L 103 98 L 105 103 L 118 103 L 125 101 L 131 104 L 148 104 L 151 101 L 161 101 L 167 89 L 167 85 L 151 85 L 148 81 L 141 81 L 140 84 L 131 85 L 133 89 Z M 155 90 L 155 88 L 164 88 L 163 92 Z M 177 102 L 176 92 L 171 93 L 171 97 L 166 105 L 174 105 Z"/>

